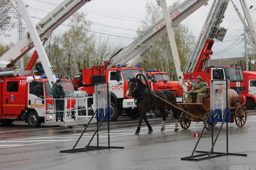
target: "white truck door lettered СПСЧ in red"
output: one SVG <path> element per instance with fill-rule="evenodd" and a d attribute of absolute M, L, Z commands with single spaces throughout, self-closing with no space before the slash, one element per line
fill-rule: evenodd
<path fill-rule="evenodd" d="M 109 84 L 111 88 L 111 92 L 116 94 L 117 98 L 123 98 L 123 76 L 121 72 L 119 72 L 120 81 L 116 81 L 116 71 L 109 71 Z"/>

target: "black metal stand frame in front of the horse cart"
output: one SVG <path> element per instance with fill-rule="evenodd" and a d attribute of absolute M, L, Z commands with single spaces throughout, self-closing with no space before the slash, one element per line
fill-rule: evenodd
<path fill-rule="evenodd" d="M 213 80 L 211 80 L 212 81 L 212 83 L 213 83 Z M 216 80 L 215 80 L 216 81 Z M 227 80 L 226 80 L 226 82 L 227 82 Z M 226 84 L 227 85 L 227 84 Z M 227 88 L 226 88 L 226 94 L 227 94 Z M 211 149 L 210 149 L 210 151 L 196 151 L 196 147 L 198 146 L 198 143 L 199 143 L 199 141 L 200 141 L 200 139 L 201 139 L 201 137 L 202 137 L 202 134 L 203 134 L 203 131 L 205 130 L 205 125 L 203 126 L 203 130 L 202 130 L 202 132 L 200 133 L 200 136 L 199 136 L 199 138 L 198 138 L 198 140 L 197 140 L 197 142 L 196 142 L 196 146 L 194 147 L 194 149 L 193 149 L 193 151 L 192 151 L 192 154 L 191 154 L 191 156 L 187 156 L 187 157 L 184 157 L 184 158 L 181 158 L 181 160 L 186 160 L 186 161 L 201 161 L 201 160 L 205 160 L 205 159 L 210 159 L 210 158 L 216 158 L 216 157 L 220 157 L 220 156 L 226 156 L 226 155 L 234 155 L 234 156 L 247 156 L 247 154 L 242 154 L 242 153 L 229 153 L 228 152 L 228 106 L 227 106 L 227 102 L 228 102 L 228 100 L 227 100 L 227 97 L 226 97 L 226 114 L 225 114 L 225 116 L 224 116 L 224 118 L 223 118 L 223 120 L 222 120 L 222 123 L 221 123 L 221 125 L 220 125 L 220 129 L 219 129 L 219 131 L 218 131 L 218 133 L 217 133 L 217 135 L 216 135 L 216 137 L 215 137 L 215 140 L 214 140 L 214 142 L 213 142 L 213 127 L 214 127 L 214 125 L 213 125 L 213 111 L 211 110 L 211 112 L 210 112 L 210 114 L 208 115 L 208 117 L 207 117 L 207 119 L 206 119 L 206 121 L 205 121 L 205 124 L 208 122 L 208 119 L 210 118 L 210 115 L 212 116 L 212 146 L 211 146 Z M 226 122 L 227 122 L 227 124 L 226 124 L 226 133 L 227 133 L 227 138 L 226 138 L 226 141 L 227 141 L 227 144 L 226 144 L 226 146 L 227 146 L 227 151 L 226 152 L 214 152 L 213 151 L 213 148 L 214 148 L 214 145 L 215 145 L 215 143 L 216 143 L 216 141 L 217 141 L 217 138 L 218 138 L 218 136 L 219 136 L 219 134 L 220 134 L 220 130 L 222 129 L 222 126 L 223 126 L 223 124 L 224 124 L 224 122 L 225 122 L 225 119 L 226 119 Z M 196 153 L 202 153 L 202 154 L 198 154 L 198 155 L 193 155 L 194 154 L 194 152 L 196 151 Z M 211 154 L 215 154 L 214 156 L 210 156 Z M 207 156 L 206 156 L 207 155 Z M 205 156 L 205 157 L 202 157 L 202 156 Z M 200 157 L 200 158 L 198 158 L 198 157 Z"/>

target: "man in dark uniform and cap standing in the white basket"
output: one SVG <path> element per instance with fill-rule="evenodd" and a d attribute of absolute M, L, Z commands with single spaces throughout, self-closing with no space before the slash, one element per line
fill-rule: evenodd
<path fill-rule="evenodd" d="M 53 84 L 52 88 L 52 94 L 55 100 L 55 109 L 56 109 L 56 122 L 58 122 L 58 118 L 60 117 L 60 121 L 64 122 L 64 104 L 65 104 L 65 92 L 63 90 L 63 87 L 61 86 L 61 79 L 58 79 L 56 83 Z M 62 100 L 60 100 L 62 99 Z"/>

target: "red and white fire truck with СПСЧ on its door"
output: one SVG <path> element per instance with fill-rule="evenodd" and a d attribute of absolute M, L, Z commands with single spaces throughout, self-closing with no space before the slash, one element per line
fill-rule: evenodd
<path fill-rule="evenodd" d="M 106 62 L 105 62 L 106 64 Z M 73 85 L 78 87 L 79 91 L 86 91 L 87 94 L 94 93 L 96 83 L 109 83 L 111 91 L 111 120 L 116 120 L 120 113 L 127 113 L 130 118 L 139 118 L 140 113 L 135 105 L 133 98 L 126 97 L 128 82 L 130 78 L 138 73 L 146 76 L 143 68 L 134 67 L 114 67 L 92 66 L 92 68 L 82 69 L 80 75 L 74 76 Z M 119 81 L 117 81 L 119 79 Z M 145 80 L 142 78 L 142 81 Z M 92 101 L 90 101 L 92 104 Z"/>

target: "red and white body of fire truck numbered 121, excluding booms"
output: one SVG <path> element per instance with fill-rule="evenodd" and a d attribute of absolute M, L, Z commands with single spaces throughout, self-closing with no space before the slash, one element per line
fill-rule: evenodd
<path fill-rule="evenodd" d="M 3 73 L 3 71 L 1 72 Z M 70 80 L 63 80 L 67 98 L 73 97 L 74 89 Z M 25 120 L 30 127 L 39 127 L 45 120 L 53 120 L 52 87 L 43 76 L 16 76 L 0 78 L 0 123 L 11 124 L 14 120 Z M 67 102 L 74 108 L 75 100 Z"/>

